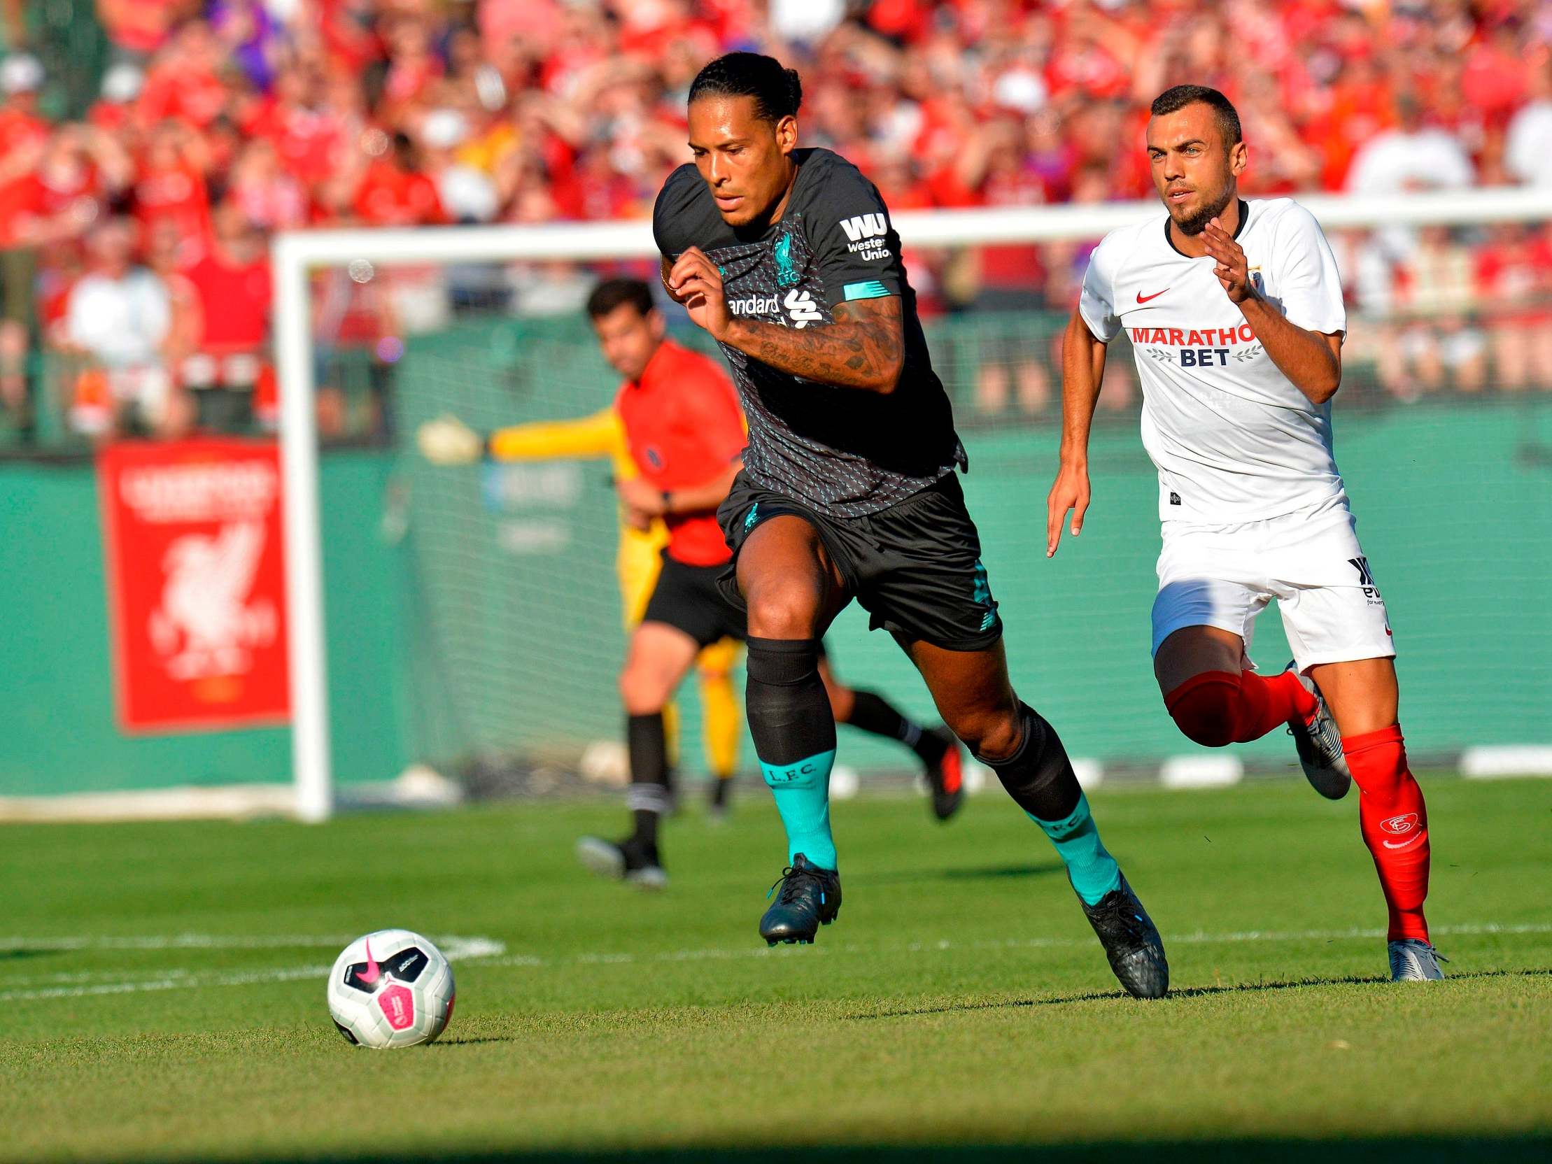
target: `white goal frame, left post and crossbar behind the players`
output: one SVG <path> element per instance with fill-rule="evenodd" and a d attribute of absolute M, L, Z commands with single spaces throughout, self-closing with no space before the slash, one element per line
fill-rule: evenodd
<path fill-rule="evenodd" d="M 1419 223 L 1530 222 L 1552 216 L 1547 191 L 1468 189 L 1397 197 L 1301 197 L 1327 230 Z M 894 216 L 913 247 L 1097 239 L 1156 214 L 1158 202 L 996 210 L 906 211 Z M 641 220 L 543 227 L 427 227 L 408 230 L 293 231 L 272 247 L 276 368 L 281 388 L 287 627 L 290 653 L 295 810 L 327 819 L 334 807 L 329 762 L 327 660 L 318 523 L 318 436 L 314 414 L 310 272 L 351 262 L 615 261 L 652 258 Z"/>

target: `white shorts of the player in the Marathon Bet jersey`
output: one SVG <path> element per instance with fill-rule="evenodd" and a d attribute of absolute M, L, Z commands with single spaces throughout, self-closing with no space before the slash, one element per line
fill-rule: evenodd
<path fill-rule="evenodd" d="M 1346 497 L 1232 526 L 1166 521 L 1158 573 L 1153 653 L 1183 627 L 1218 627 L 1243 638 L 1249 658 L 1256 616 L 1277 599 L 1301 672 L 1395 656 Z"/>

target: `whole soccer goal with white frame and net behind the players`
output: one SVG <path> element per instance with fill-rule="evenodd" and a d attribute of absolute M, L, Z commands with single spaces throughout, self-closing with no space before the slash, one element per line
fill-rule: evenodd
<path fill-rule="evenodd" d="M 1395 625 L 1409 747 L 1453 764 L 1473 747 L 1552 743 L 1552 303 L 1502 276 L 1518 223 L 1544 219 L 1544 206 L 1518 191 L 1305 205 L 1350 296 L 1338 459 Z M 1113 768 L 1195 751 L 1148 664 L 1156 484 L 1124 340 L 1111 345 L 1094 428 L 1093 508 L 1051 560 L 1044 495 L 1060 335 L 1086 253 L 1150 213 L 1063 206 L 894 223 L 970 452 L 964 484 L 1015 684 L 1076 756 Z M 584 425 L 549 433 L 551 455 L 445 469 L 417 455 L 414 431 L 442 414 L 487 431 L 607 410 L 618 376 L 582 303 L 604 275 L 655 282 L 655 270 L 643 223 L 278 242 L 303 815 L 327 813 L 335 779 L 382 779 L 394 765 L 515 774 L 514 787 L 618 776 L 625 632 L 607 449 Z M 714 351 L 681 314 L 670 329 Z M 363 458 L 379 466 L 366 489 Z M 369 669 L 355 658 L 363 638 Z M 829 646 L 849 683 L 934 719 L 919 677 L 886 635 L 866 632 L 864 615 L 844 613 Z M 1251 653 L 1263 670 L 1287 661 L 1273 611 Z M 692 681 L 678 712 L 680 768 L 695 773 Z M 908 767 L 852 733 L 841 745 L 861 770 Z M 1291 765 L 1285 739 L 1240 754 L 1252 770 Z M 745 764 L 751 756 L 745 745 Z"/>

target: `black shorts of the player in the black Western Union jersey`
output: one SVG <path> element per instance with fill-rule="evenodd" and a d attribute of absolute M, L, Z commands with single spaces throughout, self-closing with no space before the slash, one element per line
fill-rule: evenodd
<path fill-rule="evenodd" d="M 900 646 L 920 639 L 945 650 L 984 650 L 1003 636 L 981 565 L 981 535 L 954 473 L 864 517 L 819 514 L 739 473 L 717 521 L 733 548 L 722 590 L 740 610 L 743 598 L 734 577 L 739 549 L 760 521 L 781 514 L 801 517 L 818 531 L 847 591 L 872 615 L 871 630 L 888 630 Z"/>

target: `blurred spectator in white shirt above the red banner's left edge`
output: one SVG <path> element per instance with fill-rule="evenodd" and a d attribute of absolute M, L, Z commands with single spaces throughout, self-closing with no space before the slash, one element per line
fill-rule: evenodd
<path fill-rule="evenodd" d="M 65 304 L 64 343 L 78 357 L 70 419 L 90 436 L 120 428 L 171 435 L 172 405 L 163 345 L 172 324 L 168 287 L 137 265 L 135 228 L 110 219 L 87 236 L 90 268 Z"/>

